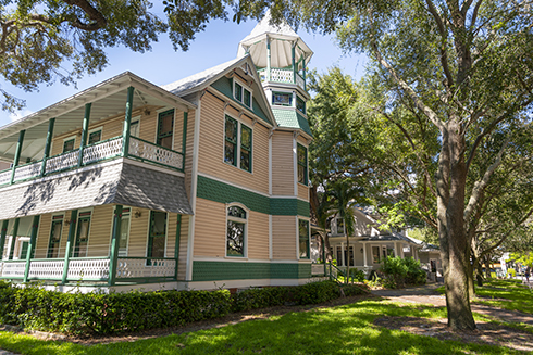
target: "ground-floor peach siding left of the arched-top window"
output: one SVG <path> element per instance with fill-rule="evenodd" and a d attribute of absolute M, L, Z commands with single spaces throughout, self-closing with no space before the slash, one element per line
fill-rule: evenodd
<path fill-rule="evenodd" d="M 224 203 L 196 199 L 195 256 L 226 255 L 226 206 Z"/>

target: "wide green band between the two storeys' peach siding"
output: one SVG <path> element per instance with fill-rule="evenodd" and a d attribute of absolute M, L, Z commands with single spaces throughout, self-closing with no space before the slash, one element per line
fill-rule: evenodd
<path fill-rule="evenodd" d="M 239 202 L 251 211 L 275 216 L 310 216 L 309 202 L 296 198 L 268 198 L 204 176 L 198 176 L 198 190 L 196 195 L 200 199 L 220 203 Z"/>

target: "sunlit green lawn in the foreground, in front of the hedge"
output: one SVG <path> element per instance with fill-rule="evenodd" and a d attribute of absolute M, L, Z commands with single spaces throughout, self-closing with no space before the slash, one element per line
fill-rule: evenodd
<path fill-rule="evenodd" d="M 84 346 L 0 332 L 0 347 L 22 354 L 525 354 L 441 341 L 373 326 L 381 316 L 445 317 L 444 308 L 365 301 L 136 342 Z"/>

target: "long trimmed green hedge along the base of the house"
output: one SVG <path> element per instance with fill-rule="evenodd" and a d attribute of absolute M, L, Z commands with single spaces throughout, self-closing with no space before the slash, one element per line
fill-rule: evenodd
<path fill-rule="evenodd" d="M 343 289 L 345 295 L 367 292 L 356 286 Z M 0 281 L 0 324 L 89 337 L 176 327 L 232 312 L 317 304 L 339 296 L 340 288 L 333 281 L 248 289 L 233 296 L 227 290 L 62 293 Z"/>

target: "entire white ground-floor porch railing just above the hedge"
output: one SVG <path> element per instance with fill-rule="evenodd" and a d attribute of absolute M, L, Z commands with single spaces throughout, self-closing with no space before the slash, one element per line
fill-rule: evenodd
<path fill-rule="evenodd" d="M 66 280 L 71 282 L 108 281 L 109 257 L 73 257 L 69 259 Z M 32 259 L 28 280 L 61 281 L 65 261 Z M 23 280 L 26 261 L 0 261 L 0 279 Z M 168 257 L 120 257 L 116 266 L 116 282 L 175 279 L 176 259 Z"/>

